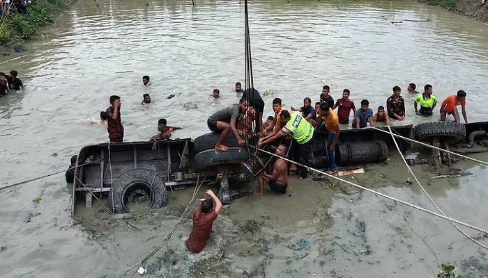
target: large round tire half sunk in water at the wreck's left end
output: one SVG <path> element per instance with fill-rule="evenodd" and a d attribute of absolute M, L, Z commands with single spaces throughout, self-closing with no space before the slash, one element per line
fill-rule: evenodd
<path fill-rule="evenodd" d="M 129 170 L 114 181 L 109 192 L 109 208 L 113 213 L 129 213 L 127 203 L 135 194 L 146 193 L 148 208 L 162 208 L 168 204 L 166 185 L 160 175 L 146 169 Z"/>

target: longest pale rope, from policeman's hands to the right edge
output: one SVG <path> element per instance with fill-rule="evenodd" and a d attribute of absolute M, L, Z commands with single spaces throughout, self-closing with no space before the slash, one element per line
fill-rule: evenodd
<path fill-rule="evenodd" d="M 475 230 L 475 231 L 480 231 L 480 232 L 482 232 L 482 233 L 488 234 L 488 231 L 487 231 L 487 230 L 485 230 L 485 229 L 480 229 L 480 228 L 475 227 L 475 226 L 473 226 L 473 225 L 471 225 L 471 224 L 466 224 L 466 223 L 461 222 L 461 221 L 459 221 L 459 220 L 455 220 L 455 219 L 453 219 L 453 218 L 449 218 L 449 217 L 444 216 L 444 215 L 441 215 L 441 214 L 439 214 L 439 213 L 435 213 L 434 211 L 429 211 L 427 208 L 422 208 L 422 207 L 420 207 L 420 206 L 416 206 L 415 204 L 410 204 L 409 202 L 402 201 L 402 200 L 397 199 L 397 198 L 395 198 L 395 197 L 390 197 L 390 196 L 388 196 L 388 195 L 386 195 L 386 194 L 379 193 L 379 192 L 378 192 L 378 191 L 376 191 L 376 190 L 372 190 L 372 189 L 370 189 L 370 188 L 365 188 L 364 186 L 360 186 L 360 185 L 358 185 L 358 184 L 356 184 L 356 183 L 352 183 L 351 181 L 346 181 L 345 179 L 341 179 L 340 177 L 335 177 L 335 176 L 330 175 L 330 174 L 327 174 L 326 172 L 323 172 L 323 171 L 321 171 L 321 170 L 314 169 L 313 167 L 310 167 L 310 166 L 307 166 L 307 165 L 303 165 L 303 164 L 298 163 L 298 162 L 296 162 L 296 161 L 292 161 L 292 160 L 290 160 L 290 159 L 288 159 L 288 158 L 286 158 L 286 157 L 278 156 L 277 154 L 273 154 L 273 153 L 271 153 L 271 152 L 266 152 L 264 149 L 259 149 L 259 152 L 264 152 L 264 153 L 266 153 L 266 154 L 270 154 L 270 155 L 272 155 L 272 156 L 277 156 L 277 157 L 280 157 L 280 158 L 284 159 L 285 161 L 288 161 L 288 162 L 290 162 L 290 163 L 295 163 L 296 165 L 301 166 L 301 167 L 308 167 L 308 168 L 310 168 L 310 170 L 314 170 L 314 171 L 319 172 L 319 173 L 321 173 L 321 174 L 325 174 L 325 175 L 326 175 L 326 176 L 328 176 L 328 177 L 331 177 L 331 178 L 333 178 L 333 179 L 337 179 L 337 180 L 339 180 L 339 181 L 342 181 L 342 182 L 344 182 L 344 183 L 347 183 L 347 184 L 349 184 L 349 185 L 351 185 L 351 186 L 354 186 L 354 187 L 356 187 L 356 188 L 360 188 L 360 189 L 366 190 L 366 191 L 368 191 L 368 192 L 370 192 L 370 193 L 374 193 L 374 194 L 376 194 L 376 195 L 380 195 L 381 197 L 385 197 L 386 199 L 390 199 L 390 200 L 392 200 L 392 201 L 399 202 L 400 204 L 404 204 L 404 205 L 406 205 L 406 206 L 410 206 L 411 208 L 415 208 L 415 209 L 418 209 L 419 211 L 423 211 L 423 212 L 425 212 L 425 213 L 432 214 L 432 215 L 437 216 L 437 217 L 439 217 L 439 218 L 443 218 L 444 220 L 449 220 L 449 221 L 455 222 L 455 223 L 457 223 L 457 224 L 460 224 L 460 225 L 462 225 L 462 226 L 464 226 L 464 227 L 468 227 L 468 228 L 473 229 L 473 230 Z"/>

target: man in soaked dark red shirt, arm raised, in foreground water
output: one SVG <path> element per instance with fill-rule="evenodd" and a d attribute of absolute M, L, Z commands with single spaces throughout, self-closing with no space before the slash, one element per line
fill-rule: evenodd
<path fill-rule="evenodd" d="M 222 211 L 222 203 L 212 190 L 207 189 L 205 195 L 211 199 L 200 199 L 200 204 L 193 213 L 192 232 L 185 243 L 186 249 L 193 253 L 199 253 L 204 249 L 210 238 L 213 221 Z"/>

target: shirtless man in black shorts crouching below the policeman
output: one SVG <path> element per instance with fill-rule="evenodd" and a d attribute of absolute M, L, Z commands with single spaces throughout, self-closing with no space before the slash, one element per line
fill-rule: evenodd
<path fill-rule="evenodd" d="M 287 193 L 288 187 L 288 164 L 287 161 L 283 159 L 287 154 L 287 145 L 280 144 L 275 154 L 277 154 L 276 161 L 273 164 L 273 174 L 266 174 L 266 172 L 261 172 L 258 178 L 259 191 L 256 190 L 252 194 L 263 195 L 264 194 L 264 182 L 268 183 L 270 189 L 277 193 Z"/>

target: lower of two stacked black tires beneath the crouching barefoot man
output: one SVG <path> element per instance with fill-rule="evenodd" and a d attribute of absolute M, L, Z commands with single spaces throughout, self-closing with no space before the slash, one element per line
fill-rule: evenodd
<path fill-rule="evenodd" d="M 227 152 L 207 149 L 195 155 L 195 167 L 197 167 L 197 170 L 208 170 L 222 165 L 241 164 L 246 160 L 247 153 L 241 147 L 230 147 Z"/>

